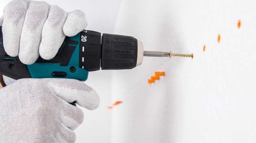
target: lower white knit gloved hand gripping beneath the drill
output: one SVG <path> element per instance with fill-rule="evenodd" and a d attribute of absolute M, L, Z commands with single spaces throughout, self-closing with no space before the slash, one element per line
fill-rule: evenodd
<path fill-rule="evenodd" d="M 0 90 L 1 142 L 75 142 L 83 121 L 78 105 L 94 110 L 95 90 L 73 79 L 20 79 Z"/>

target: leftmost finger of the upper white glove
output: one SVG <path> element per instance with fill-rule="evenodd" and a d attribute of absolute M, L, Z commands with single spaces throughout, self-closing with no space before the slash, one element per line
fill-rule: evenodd
<path fill-rule="evenodd" d="M 4 8 L 3 44 L 6 53 L 13 57 L 19 53 L 20 35 L 29 3 L 28 0 L 13 0 Z"/>

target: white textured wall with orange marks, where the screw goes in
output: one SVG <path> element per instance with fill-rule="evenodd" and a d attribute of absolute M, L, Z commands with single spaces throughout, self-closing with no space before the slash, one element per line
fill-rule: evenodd
<path fill-rule="evenodd" d="M 112 142 L 256 142 L 255 7 L 254 0 L 123 0 L 115 34 L 194 59 L 144 57 L 133 70 L 113 72 L 112 103 L 123 103 L 112 110 Z M 150 85 L 155 71 L 166 75 Z"/>

